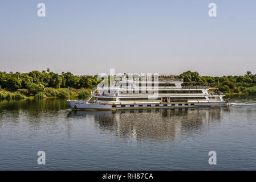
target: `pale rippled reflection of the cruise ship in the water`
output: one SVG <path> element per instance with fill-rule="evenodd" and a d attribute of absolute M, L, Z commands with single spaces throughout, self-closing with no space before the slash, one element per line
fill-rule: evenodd
<path fill-rule="evenodd" d="M 148 109 L 117 111 L 73 110 L 68 117 L 93 118 L 101 131 L 136 140 L 174 140 L 208 130 L 210 122 L 220 122 L 229 107 L 188 109 Z M 87 120 L 87 119 L 86 119 Z"/>

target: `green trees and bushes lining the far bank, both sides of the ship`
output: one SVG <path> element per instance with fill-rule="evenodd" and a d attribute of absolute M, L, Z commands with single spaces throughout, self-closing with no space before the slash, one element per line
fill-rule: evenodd
<path fill-rule="evenodd" d="M 187 71 L 175 78 L 185 82 L 205 82 L 213 88 L 219 88 L 225 94 L 256 95 L 256 75 L 247 71 L 242 76 L 200 76 L 198 72 Z M 70 72 L 62 74 L 47 71 L 29 73 L 0 72 L 0 100 L 20 100 L 23 98 L 67 98 L 68 86 L 70 98 L 85 99 L 101 80 L 95 76 L 75 76 Z"/>

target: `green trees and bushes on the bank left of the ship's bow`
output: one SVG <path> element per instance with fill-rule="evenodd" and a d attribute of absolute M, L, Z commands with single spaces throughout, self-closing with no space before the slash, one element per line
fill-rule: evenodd
<path fill-rule="evenodd" d="M 96 76 L 75 76 L 70 72 L 62 74 L 47 71 L 29 73 L 0 72 L 0 100 L 20 100 L 23 98 L 70 98 L 84 99 L 91 94 L 101 80 Z"/>

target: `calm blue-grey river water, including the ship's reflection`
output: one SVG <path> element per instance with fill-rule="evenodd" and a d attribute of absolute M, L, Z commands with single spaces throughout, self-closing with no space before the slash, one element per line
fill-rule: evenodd
<path fill-rule="evenodd" d="M 41 150 L 46 165 L 37 163 Z M 0 169 L 255 170 L 256 97 L 231 98 L 229 107 L 127 111 L 0 101 Z"/>

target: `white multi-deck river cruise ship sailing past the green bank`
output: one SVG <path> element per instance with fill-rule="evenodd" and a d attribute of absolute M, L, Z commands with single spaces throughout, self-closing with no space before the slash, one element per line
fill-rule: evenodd
<path fill-rule="evenodd" d="M 72 109 L 117 110 L 171 107 L 224 106 L 225 95 L 202 82 L 184 82 L 161 75 L 157 80 L 120 78 L 109 86 L 94 89 L 87 100 L 69 100 Z"/>

